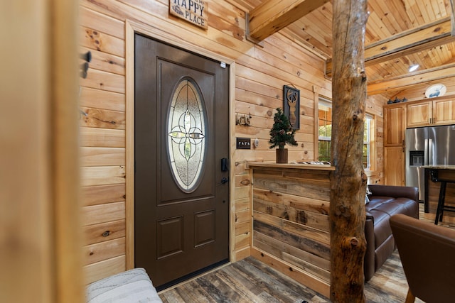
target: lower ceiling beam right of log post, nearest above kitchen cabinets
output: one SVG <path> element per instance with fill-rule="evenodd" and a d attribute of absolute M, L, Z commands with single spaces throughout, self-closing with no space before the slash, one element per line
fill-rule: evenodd
<path fill-rule="evenodd" d="M 410 75 L 395 77 L 385 81 L 377 81 L 368 84 L 368 96 L 374 94 L 382 94 L 385 92 L 394 92 L 397 90 L 404 90 L 423 83 L 439 81 L 449 77 L 455 77 L 455 63 L 441 65 L 429 70 L 422 70 L 420 72 L 413 72 Z"/>

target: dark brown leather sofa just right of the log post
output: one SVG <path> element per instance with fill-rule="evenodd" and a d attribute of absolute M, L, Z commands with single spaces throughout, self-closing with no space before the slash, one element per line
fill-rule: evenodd
<path fill-rule="evenodd" d="M 405 214 L 419 218 L 419 189 L 417 187 L 370 184 L 370 202 L 365 203 L 364 260 L 365 282 L 370 280 L 396 248 L 390 228 L 390 216 Z"/>

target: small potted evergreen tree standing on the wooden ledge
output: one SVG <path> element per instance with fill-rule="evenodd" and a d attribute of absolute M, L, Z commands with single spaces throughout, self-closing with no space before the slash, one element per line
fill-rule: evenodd
<path fill-rule="evenodd" d="M 283 113 L 282 109 L 277 108 L 277 113 L 274 116 L 274 123 L 270 130 L 270 148 L 277 147 L 277 163 L 287 163 L 287 148 L 285 145 L 297 145 L 294 135 L 296 130 L 292 128 L 288 117 Z"/>

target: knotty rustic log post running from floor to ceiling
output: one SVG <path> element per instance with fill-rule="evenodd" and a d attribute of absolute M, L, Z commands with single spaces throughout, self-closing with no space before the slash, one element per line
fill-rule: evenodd
<path fill-rule="evenodd" d="M 367 0 L 333 0 L 331 300 L 365 302 L 363 118 L 367 97 L 364 37 Z"/>

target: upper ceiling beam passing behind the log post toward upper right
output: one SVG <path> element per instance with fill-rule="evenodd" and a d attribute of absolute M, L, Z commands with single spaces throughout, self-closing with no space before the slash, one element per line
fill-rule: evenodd
<path fill-rule="evenodd" d="M 451 18 L 446 17 L 367 45 L 365 67 L 453 42 L 451 31 Z M 331 59 L 326 60 L 325 73 L 332 77 Z"/>

